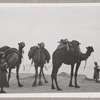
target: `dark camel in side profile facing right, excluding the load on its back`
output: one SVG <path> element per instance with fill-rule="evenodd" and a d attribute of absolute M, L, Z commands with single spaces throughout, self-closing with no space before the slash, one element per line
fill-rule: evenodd
<path fill-rule="evenodd" d="M 93 48 L 89 46 L 89 47 L 87 47 L 86 53 L 81 53 L 79 57 L 76 57 L 76 56 L 68 54 L 68 52 L 66 51 L 66 47 L 56 50 L 53 53 L 53 57 L 52 57 L 53 69 L 52 69 L 52 74 L 51 74 L 51 79 L 52 79 L 51 89 L 55 89 L 55 86 L 53 83 L 55 81 L 57 90 L 62 90 L 59 88 L 58 82 L 57 82 L 57 73 L 58 73 L 58 70 L 61 67 L 62 63 L 71 65 L 71 78 L 70 78 L 70 82 L 69 82 L 69 87 L 73 87 L 73 85 L 72 85 L 73 70 L 74 70 L 74 65 L 76 64 L 75 87 L 79 88 L 79 86 L 77 85 L 77 73 L 78 73 L 79 66 L 81 64 L 81 61 L 86 60 L 93 51 L 94 51 Z"/>

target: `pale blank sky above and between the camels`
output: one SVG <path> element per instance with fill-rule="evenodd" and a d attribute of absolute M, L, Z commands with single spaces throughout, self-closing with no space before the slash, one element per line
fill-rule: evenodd
<path fill-rule="evenodd" d="M 80 74 L 92 78 L 94 61 L 100 64 L 100 5 L 0 6 L 0 35 L 0 47 L 8 45 L 18 48 L 19 42 L 25 42 L 22 66 L 30 64 L 28 51 L 40 42 L 45 43 L 51 56 L 60 39 L 79 41 L 83 53 L 87 46 L 93 46 L 94 53 L 89 57 L 86 69 L 85 62 L 79 69 Z M 51 73 L 51 69 L 44 71 Z M 33 73 L 34 67 L 30 70 L 28 73 Z M 70 66 L 63 64 L 59 72 L 62 71 L 70 73 Z M 20 72 L 23 72 L 23 67 Z"/>

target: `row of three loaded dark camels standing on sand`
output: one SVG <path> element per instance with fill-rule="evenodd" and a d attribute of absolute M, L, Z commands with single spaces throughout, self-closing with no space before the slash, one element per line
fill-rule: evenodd
<path fill-rule="evenodd" d="M 70 82 L 69 87 L 75 87 L 79 88 L 77 84 L 77 73 L 79 66 L 81 64 L 81 61 L 87 60 L 87 58 L 91 55 L 92 52 L 94 52 L 94 49 L 92 46 L 86 47 L 87 51 L 86 53 L 82 53 L 79 48 L 80 43 L 76 40 L 73 40 L 71 42 L 69 41 L 60 41 L 58 48 L 53 52 L 52 54 L 52 73 L 51 73 L 51 89 L 57 89 L 62 90 L 57 82 L 57 73 L 59 68 L 61 67 L 62 63 L 71 65 L 71 76 L 70 76 Z M 23 85 L 20 83 L 19 79 L 19 68 L 20 64 L 22 62 L 22 56 L 23 56 L 23 48 L 25 47 L 24 42 L 18 43 L 18 49 L 11 48 L 9 46 L 3 46 L 0 48 L 0 52 L 4 52 L 6 56 L 6 61 L 8 64 L 8 87 L 9 87 L 9 80 L 11 77 L 11 70 L 13 68 L 16 68 L 16 78 L 18 81 L 18 86 L 22 87 Z M 43 75 L 43 78 L 45 80 L 45 83 L 48 81 L 45 78 L 43 67 L 45 63 L 49 63 L 50 60 L 50 54 L 47 49 L 44 48 L 44 43 L 39 43 L 37 46 L 33 46 L 30 48 L 28 52 L 28 57 L 30 60 L 32 60 L 32 63 L 34 63 L 35 67 L 35 80 L 33 82 L 32 86 L 37 85 L 37 77 L 38 77 L 38 67 L 40 67 L 40 73 L 39 73 L 39 83 L 38 85 L 42 85 L 41 83 L 41 75 Z M 76 64 L 75 69 L 75 85 L 72 84 L 73 79 L 73 71 L 74 71 L 74 65 Z M 55 82 L 55 85 L 54 85 Z M 56 87 L 55 87 L 56 86 Z"/>

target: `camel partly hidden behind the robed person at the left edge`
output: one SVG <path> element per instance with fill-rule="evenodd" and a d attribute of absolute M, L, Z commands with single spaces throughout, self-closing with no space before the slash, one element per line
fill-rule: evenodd
<path fill-rule="evenodd" d="M 25 43 L 20 42 L 20 43 L 18 43 L 18 45 L 19 45 L 19 50 L 17 50 L 16 48 L 8 47 L 8 46 L 4 46 L 4 47 L 0 48 L 0 51 L 5 53 L 6 61 L 7 61 L 7 64 L 8 64 L 8 69 L 9 69 L 8 87 L 9 87 L 9 80 L 10 80 L 10 77 L 11 77 L 11 70 L 15 67 L 16 67 L 16 78 L 17 78 L 17 81 L 18 81 L 18 86 L 19 87 L 23 86 L 19 81 L 19 67 L 20 67 L 20 64 L 21 64 L 22 53 L 23 53 L 23 48 L 25 47 Z"/>

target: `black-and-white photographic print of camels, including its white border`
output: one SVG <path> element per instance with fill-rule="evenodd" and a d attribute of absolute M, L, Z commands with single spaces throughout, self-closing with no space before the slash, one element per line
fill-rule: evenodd
<path fill-rule="evenodd" d="M 100 92 L 100 4 L 0 5 L 0 95 Z"/>

